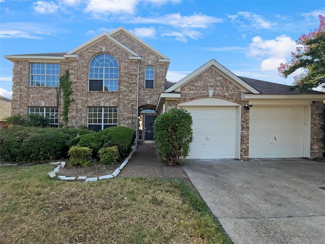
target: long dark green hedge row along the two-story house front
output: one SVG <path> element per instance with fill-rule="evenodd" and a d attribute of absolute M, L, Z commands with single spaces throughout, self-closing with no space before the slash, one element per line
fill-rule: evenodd
<path fill-rule="evenodd" d="M 102 147 L 116 145 L 120 157 L 131 151 L 135 130 L 111 127 L 100 132 L 79 129 L 12 127 L 0 130 L 0 157 L 5 162 L 39 162 L 68 157 L 73 145 L 89 147 L 96 157 Z"/>

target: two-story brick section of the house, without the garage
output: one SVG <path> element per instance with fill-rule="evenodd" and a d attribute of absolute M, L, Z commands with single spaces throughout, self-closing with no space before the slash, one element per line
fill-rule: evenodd
<path fill-rule="evenodd" d="M 123 27 L 70 52 L 5 57 L 14 63 L 13 114 L 41 113 L 52 126 L 60 126 L 59 77 L 69 70 L 73 91 L 69 127 L 136 129 L 138 123 L 138 138 L 153 142 L 155 107 L 168 83 L 170 59 Z"/>

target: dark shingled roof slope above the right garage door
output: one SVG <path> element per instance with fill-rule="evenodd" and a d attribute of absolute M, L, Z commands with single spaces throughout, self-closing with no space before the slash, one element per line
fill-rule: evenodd
<path fill-rule="evenodd" d="M 289 90 L 290 86 L 289 85 L 283 85 L 283 84 L 278 84 L 278 83 L 272 83 L 268 81 L 263 81 L 263 80 L 256 80 L 256 79 L 251 79 L 251 78 L 246 78 L 246 77 L 241 77 L 243 81 L 245 81 L 247 84 L 250 86 L 254 87 L 256 90 L 261 95 L 303 95 L 303 94 L 319 94 L 319 95 L 324 95 L 322 92 L 317 92 L 316 90 L 308 90 L 305 93 L 300 93 L 300 92 L 293 92 Z"/>

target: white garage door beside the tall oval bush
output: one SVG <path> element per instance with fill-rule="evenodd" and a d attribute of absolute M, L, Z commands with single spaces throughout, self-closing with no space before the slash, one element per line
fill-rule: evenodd
<path fill-rule="evenodd" d="M 187 159 L 236 158 L 236 107 L 184 107 L 193 118 Z"/>

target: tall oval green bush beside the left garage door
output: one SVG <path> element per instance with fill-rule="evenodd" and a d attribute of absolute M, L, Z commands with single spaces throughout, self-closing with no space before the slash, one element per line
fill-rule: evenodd
<path fill-rule="evenodd" d="M 185 109 L 171 109 L 154 121 L 154 137 L 161 161 L 170 166 L 180 163 L 189 154 L 193 141 L 192 116 Z"/>

